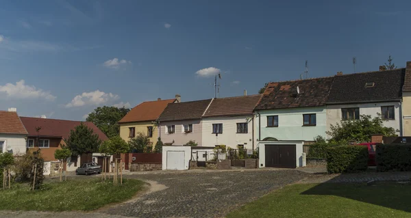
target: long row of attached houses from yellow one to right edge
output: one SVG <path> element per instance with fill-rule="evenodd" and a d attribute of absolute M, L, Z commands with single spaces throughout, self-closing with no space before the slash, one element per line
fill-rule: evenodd
<path fill-rule="evenodd" d="M 406 68 L 271 82 L 264 94 L 141 103 L 119 122 L 121 137 L 147 133 L 154 143 L 255 149 L 262 141 L 313 141 L 341 120 L 382 115 L 397 135 L 411 135 L 411 62 Z"/>

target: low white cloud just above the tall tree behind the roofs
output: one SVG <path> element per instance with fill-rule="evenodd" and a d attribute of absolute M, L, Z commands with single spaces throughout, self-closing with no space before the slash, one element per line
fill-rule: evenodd
<path fill-rule="evenodd" d="M 116 94 L 100 92 L 96 90 L 94 92 L 83 92 L 77 95 L 71 100 L 71 103 L 65 105 L 65 107 L 82 107 L 87 105 L 102 105 L 119 99 L 120 96 Z"/>

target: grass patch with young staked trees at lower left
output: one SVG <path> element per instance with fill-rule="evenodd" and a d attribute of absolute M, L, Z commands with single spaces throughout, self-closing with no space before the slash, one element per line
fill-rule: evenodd
<path fill-rule="evenodd" d="M 0 191 L 0 210 L 95 210 L 115 202 L 129 200 L 142 190 L 140 180 L 123 179 L 123 185 L 101 179 L 50 182 L 42 189 L 29 191 L 28 185 L 15 184 Z"/>

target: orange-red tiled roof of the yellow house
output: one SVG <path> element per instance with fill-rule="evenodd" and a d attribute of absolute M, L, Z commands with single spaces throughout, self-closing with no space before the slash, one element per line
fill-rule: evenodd
<path fill-rule="evenodd" d="M 129 111 L 119 123 L 157 120 L 167 105 L 174 101 L 175 99 L 145 101 Z"/>

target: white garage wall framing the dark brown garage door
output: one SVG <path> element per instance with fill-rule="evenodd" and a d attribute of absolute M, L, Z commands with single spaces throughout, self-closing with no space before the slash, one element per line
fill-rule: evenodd
<path fill-rule="evenodd" d="M 303 166 L 303 141 L 260 141 L 258 143 L 258 155 L 259 155 L 258 166 L 260 168 L 265 167 L 265 145 L 266 144 L 295 145 L 296 165 L 297 167 Z"/>

